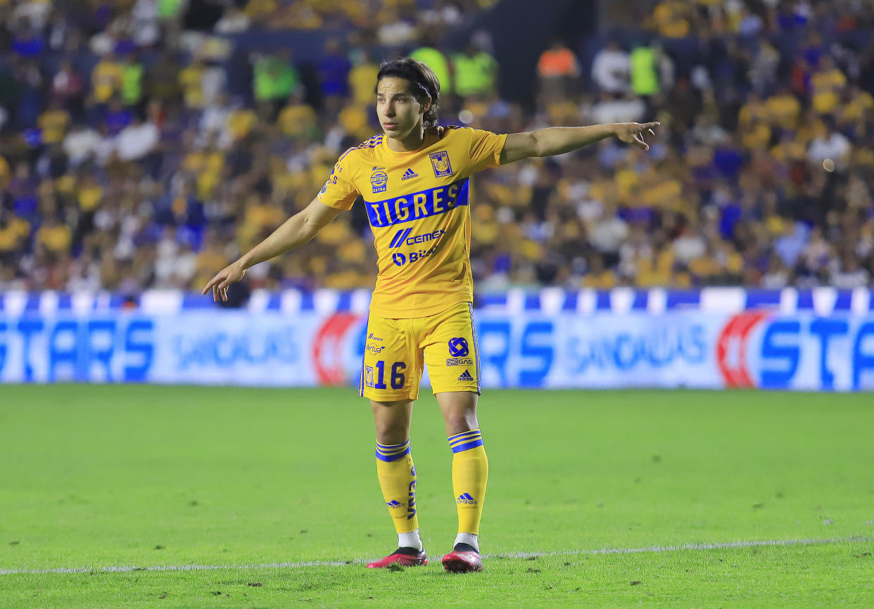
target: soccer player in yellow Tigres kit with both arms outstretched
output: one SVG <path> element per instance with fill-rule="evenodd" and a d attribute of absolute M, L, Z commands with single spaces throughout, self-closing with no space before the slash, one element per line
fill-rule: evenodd
<path fill-rule="evenodd" d="M 378 274 L 367 320 L 358 394 L 371 401 L 379 486 L 398 549 L 368 564 L 427 564 L 416 512 L 410 449 L 413 402 L 424 366 L 453 454 L 458 536 L 447 571 L 481 571 L 478 533 L 489 461 L 476 419 L 480 362 L 471 313 L 470 177 L 531 156 L 560 155 L 607 137 L 649 149 L 643 134 L 659 123 L 545 128 L 496 135 L 438 127 L 440 83 L 414 59 L 384 63 L 376 102 L 383 133 L 346 150 L 316 198 L 267 239 L 222 269 L 204 288 L 213 299 L 246 270 L 312 239 L 357 197 L 373 229 Z"/>

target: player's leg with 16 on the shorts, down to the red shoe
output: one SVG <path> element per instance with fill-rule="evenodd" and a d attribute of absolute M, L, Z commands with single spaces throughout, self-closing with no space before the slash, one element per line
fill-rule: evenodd
<path fill-rule="evenodd" d="M 426 564 L 416 513 L 416 468 L 410 449 L 413 401 L 419 394 L 421 356 L 416 356 L 405 320 L 371 315 L 360 393 L 371 400 L 376 427 L 379 487 L 398 533 L 398 550 L 369 568 Z"/>

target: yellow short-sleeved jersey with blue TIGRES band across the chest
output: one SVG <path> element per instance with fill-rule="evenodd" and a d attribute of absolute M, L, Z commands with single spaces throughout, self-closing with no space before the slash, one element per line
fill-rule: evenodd
<path fill-rule="evenodd" d="M 318 198 L 340 210 L 364 199 L 378 255 L 373 313 L 424 317 L 473 301 L 470 176 L 500 164 L 506 140 L 435 128 L 418 150 L 394 152 L 374 135 L 340 156 Z"/>

